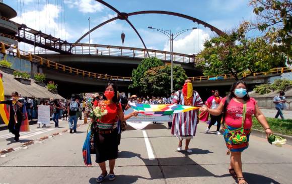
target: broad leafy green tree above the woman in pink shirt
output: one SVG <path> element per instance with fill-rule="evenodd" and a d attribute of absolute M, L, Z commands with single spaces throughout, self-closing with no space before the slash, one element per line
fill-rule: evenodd
<path fill-rule="evenodd" d="M 229 34 L 205 41 L 204 49 L 196 61 L 206 76 L 232 74 L 242 80 L 257 72 L 266 72 L 282 65 L 284 55 L 270 52 L 268 43 L 262 38 L 246 39 L 249 24 L 244 22 Z M 243 76 L 243 73 L 248 75 Z"/>

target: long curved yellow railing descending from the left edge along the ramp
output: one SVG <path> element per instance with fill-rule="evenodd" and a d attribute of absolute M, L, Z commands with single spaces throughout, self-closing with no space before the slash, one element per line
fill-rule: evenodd
<path fill-rule="evenodd" d="M 40 65 L 45 66 L 47 68 L 51 68 L 54 70 L 58 70 L 58 71 L 62 71 L 62 72 L 66 72 L 66 73 L 70 73 L 70 74 L 74 74 L 78 76 L 89 77 L 89 78 L 113 80 L 113 81 L 131 81 L 130 77 L 111 76 L 111 75 L 97 74 L 97 73 L 92 73 L 92 72 L 88 72 L 84 70 L 79 70 L 76 68 L 58 64 L 56 62 L 52 62 L 51 60 L 42 58 L 40 56 L 31 54 L 30 52 L 26 52 L 18 48 L 13 48 L 13 49 L 9 49 L 9 48 L 10 48 L 10 45 L 0 42 L 0 49 L 3 54 L 10 54 L 11 52 L 13 52 L 19 58 L 27 59 L 33 63 L 39 63 Z"/>

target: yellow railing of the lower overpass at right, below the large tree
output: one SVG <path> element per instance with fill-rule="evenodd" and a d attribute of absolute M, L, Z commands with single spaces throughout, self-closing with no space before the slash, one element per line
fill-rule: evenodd
<path fill-rule="evenodd" d="M 292 72 L 292 67 L 283 67 L 283 68 L 274 68 L 267 72 L 259 72 L 250 75 L 250 72 L 245 72 L 241 77 L 248 77 L 248 76 L 266 76 L 271 74 L 282 74 Z M 207 81 L 207 80 L 225 80 L 225 79 L 234 79 L 232 74 L 224 74 L 224 75 L 217 75 L 217 76 L 197 76 L 197 77 L 189 77 L 191 81 Z"/>

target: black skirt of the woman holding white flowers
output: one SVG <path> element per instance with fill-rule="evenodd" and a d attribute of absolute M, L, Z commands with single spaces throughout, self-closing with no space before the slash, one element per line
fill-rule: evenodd
<path fill-rule="evenodd" d="M 116 129 L 111 134 L 99 134 L 97 132 L 94 135 L 94 139 L 96 163 L 118 158 L 118 134 Z"/>

